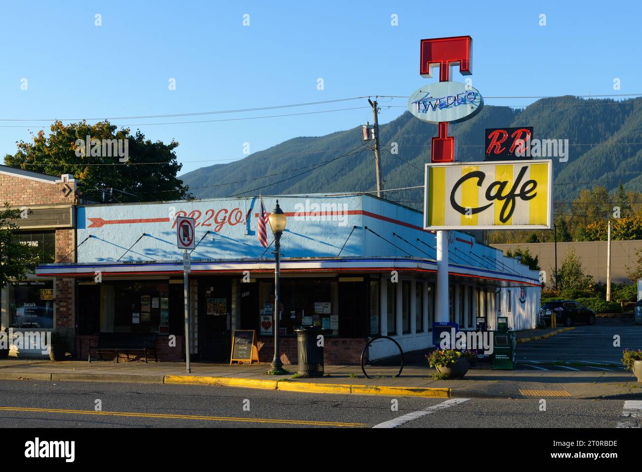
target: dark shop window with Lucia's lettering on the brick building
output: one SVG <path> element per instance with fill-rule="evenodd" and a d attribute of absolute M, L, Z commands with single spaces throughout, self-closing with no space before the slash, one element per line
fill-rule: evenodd
<path fill-rule="evenodd" d="M 28 280 L 9 284 L 12 328 L 53 328 L 53 281 Z"/>

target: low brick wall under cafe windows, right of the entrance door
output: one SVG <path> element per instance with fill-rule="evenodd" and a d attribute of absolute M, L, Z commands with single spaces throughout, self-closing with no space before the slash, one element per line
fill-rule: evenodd
<path fill-rule="evenodd" d="M 363 351 L 365 342 L 365 338 L 325 337 L 324 364 L 360 363 L 361 351 Z M 272 362 L 274 357 L 274 338 L 260 337 L 257 346 L 259 348 L 259 362 Z M 279 350 L 281 351 L 282 363 L 298 363 L 299 349 L 296 337 L 279 338 Z"/>

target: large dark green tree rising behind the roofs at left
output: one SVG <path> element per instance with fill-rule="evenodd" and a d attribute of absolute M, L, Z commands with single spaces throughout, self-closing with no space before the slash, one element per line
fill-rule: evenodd
<path fill-rule="evenodd" d="M 40 130 L 33 135 L 33 142 L 20 141 L 15 154 L 4 156 L 4 163 L 49 175 L 73 174 L 89 197 L 98 197 L 101 191 L 96 189 L 103 188 L 117 189 L 114 194 L 117 202 L 177 200 L 187 196 L 187 186 L 176 177 L 182 168 L 174 152 L 176 141 L 152 143 L 138 130 L 132 135 L 129 128 L 116 128 L 109 121 L 95 125 L 85 121 L 64 125 L 55 121 L 49 135 Z M 83 149 L 88 135 L 92 143 Z M 118 155 L 105 155 L 100 143 L 112 139 L 123 140 L 123 151 L 127 143 L 126 162 L 121 162 L 125 159 Z"/>

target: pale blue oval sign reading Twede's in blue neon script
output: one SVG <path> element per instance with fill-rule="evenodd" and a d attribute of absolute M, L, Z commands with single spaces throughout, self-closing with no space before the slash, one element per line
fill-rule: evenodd
<path fill-rule="evenodd" d="M 461 82 L 429 83 L 408 99 L 408 110 L 428 123 L 458 123 L 473 118 L 482 107 L 482 94 Z"/>

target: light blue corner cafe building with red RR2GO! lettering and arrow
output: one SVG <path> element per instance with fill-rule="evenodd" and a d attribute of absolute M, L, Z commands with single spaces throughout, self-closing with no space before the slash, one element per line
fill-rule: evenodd
<path fill-rule="evenodd" d="M 281 237 L 281 299 L 274 306 L 273 236 L 259 241 L 261 198 L 78 205 L 74 259 L 46 263 L 39 280 L 72 280 L 76 355 L 87 358 L 101 333 L 152 333 L 159 360 L 184 358 L 183 254 L 177 216 L 195 219 L 189 272 L 191 359 L 229 362 L 232 333 L 256 331 L 259 360 L 273 356 L 279 316 L 283 363 L 297 362 L 295 329 L 324 329 L 325 363 L 359 362 L 369 337 L 388 335 L 404 352 L 433 345 L 435 234 L 422 213 L 369 194 L 263 197 L 287 217 Z M 533 328 L 539 274 L 450 231 L 449 318 L 490 329 L 507 316 Z M 67 302 L 56 297 L 56 304 Z M 395 354 L 377 343 L 370 358 Z"/>

